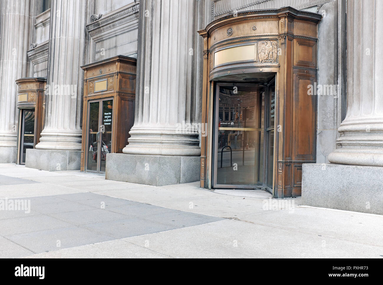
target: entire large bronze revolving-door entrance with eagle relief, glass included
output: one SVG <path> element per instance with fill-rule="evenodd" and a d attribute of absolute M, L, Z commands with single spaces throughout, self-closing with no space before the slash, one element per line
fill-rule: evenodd
<path fill-rule="evenodd" d="M 291 7 L 254 10 L 223 16 L 198 31 L 206 130 L 201 187 L 301 195 L 302 163 L 316 162 L 317 98 L 308 88 L 317 78 L 321 17 Z M 220 99 L 230 102 L 220 105 Z"/>

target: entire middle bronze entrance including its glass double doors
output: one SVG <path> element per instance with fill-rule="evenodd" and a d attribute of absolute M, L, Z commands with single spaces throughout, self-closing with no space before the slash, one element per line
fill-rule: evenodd
<path fill-rule="evenodd" d="M 84 70 L 81 171 L 105 174 L 108 153 L 122 153 L 134 123 L 136 59 L 115 56 Z"/>

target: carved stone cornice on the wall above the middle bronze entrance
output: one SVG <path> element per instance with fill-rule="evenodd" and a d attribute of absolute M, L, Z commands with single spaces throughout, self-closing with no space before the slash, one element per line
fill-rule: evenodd
<path fill-rule="evenodd" d="M 118 11 L 112 15 L 100 18 L 92 23 L 89 23 L 87 31 L 90 36 L 95 36 L 104 31 L 120 26 L 124 23 L 128 23 L 138 19 L 139 3 L 138 1 L 121 11 Z"/>

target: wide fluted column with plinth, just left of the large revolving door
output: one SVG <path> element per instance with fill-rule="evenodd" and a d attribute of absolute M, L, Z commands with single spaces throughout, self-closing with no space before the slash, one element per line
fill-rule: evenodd
<path fill-rule="evenodd" d="M 106 179 L 155 186 L 200 179 L 205 3 L 140 1 L 134 125 L 123 154 L 106 157 Z"/>

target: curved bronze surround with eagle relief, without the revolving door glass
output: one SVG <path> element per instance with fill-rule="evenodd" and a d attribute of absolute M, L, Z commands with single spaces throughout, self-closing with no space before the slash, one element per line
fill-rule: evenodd
<path fill-rule="evenodd" d="M 301 195 L 302 163 L 316 162 L 318 23 L 321 15 L 291 7 L 234 13 L 198 31 L 204 42 L 201 187 L 214 179 L 217 84 L 264 84 L 275 75 L 272 187 L 275 198 Z M 271 185 L 270 185 L 271 186 Z M 255 187 L 254 187 L 255 188 Z"/>

